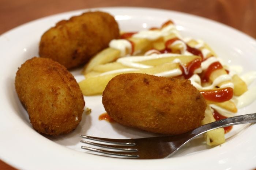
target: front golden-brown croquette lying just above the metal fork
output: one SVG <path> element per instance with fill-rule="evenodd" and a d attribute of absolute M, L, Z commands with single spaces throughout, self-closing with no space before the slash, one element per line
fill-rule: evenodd
<path fill-rule="evenodd" d="M 169 135 L 199 127 L 206 110 L 206 101 L 189 80 L 139 73 L 110 80 L 102 103 L 120 124 Z"/>

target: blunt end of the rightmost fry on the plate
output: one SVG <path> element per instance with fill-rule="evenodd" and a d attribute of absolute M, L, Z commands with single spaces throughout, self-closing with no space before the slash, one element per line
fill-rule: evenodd
<path fill-rule="evenodd" d="M 235 96 L 240 96 L 248 90 L 246 83 L 237 74 L 232 77 L 232 83 L 234 84 Z"/>

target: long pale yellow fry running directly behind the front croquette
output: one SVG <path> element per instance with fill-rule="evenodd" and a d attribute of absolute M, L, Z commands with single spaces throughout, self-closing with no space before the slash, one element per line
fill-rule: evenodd
<path fill-rule="evenodd" d="M 102 94 L 108 82 L 118 74 L 133 72 L 133 73 L 145 73 L 145 74 L 156 75 L 158 73 L 162 73 L 162 72 L 166 72 L 174 69 L 179 69 L 179 64 L 166 63 L 161 66 L 152 67 L 152 68 L 143 68 L 137 71 L 124 71 L 124 72 L 119 72 L 114 74 L 104 73 L 104 75 L 98 74 L 95 76 L 87 77 L 82 82 L 79 82 L 79 86 L 82 90 L 83 95 L 88 96 L 88 95 Z"/>

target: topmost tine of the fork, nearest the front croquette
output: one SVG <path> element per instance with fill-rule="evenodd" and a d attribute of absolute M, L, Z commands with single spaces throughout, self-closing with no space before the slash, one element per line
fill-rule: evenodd
<path fill-rule="evenodd" d="M 113 143 L 116 145 L 125 145 L 125 146 L 135 146 L 136 145 L 136 143 L 132 143 L 132 142 L 121 142 L 121 141 L 125 141 L 125 139 L 107 139 L 107 138 L 90 137 L 90 136 L 86 136 L 86 135 L 80 135 L 80 137 L 84 138 L 84 139 L 98 141 L 98 142 Z M 120 142 L 118 142 L 118 141 L 120 141 Z"/>

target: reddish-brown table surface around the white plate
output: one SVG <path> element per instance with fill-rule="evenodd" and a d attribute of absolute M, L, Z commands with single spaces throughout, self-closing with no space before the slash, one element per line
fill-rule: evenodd
<path fill-rule="evenodd" d="M 77 9 L 95 7 L 149 7 L 206 17 L 256 38 L 255 0 L 0 0 L 0 35 L 18 25 Z M 1 170 L 14 168 L 0 160 Z"/>

